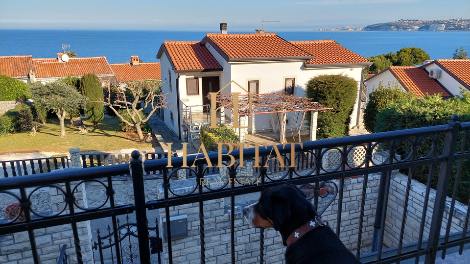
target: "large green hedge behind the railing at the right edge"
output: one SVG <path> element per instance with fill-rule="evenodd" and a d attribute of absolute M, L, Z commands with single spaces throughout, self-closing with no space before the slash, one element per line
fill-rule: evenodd
<path fill-rule="evenodd" d="M 470 121 L 470 94 L 468 92 L 462 91 L 461 97 L 456 96 L 447 100 L 443 100 L 440 95 L 426 96 L 423 98 L 416 96 L 401 98 L 396 103 L 387 104 L 387 106 L 377 114 L 377 125 L 375 126 L 374 132 L 446 124 L 453 114 L 458 114 L 461 122 Z M 438 144 L 441 146 L 441 149 L 438 149 L 437 153 L 442 153 L 444 140 L 445 135 L 441 135 L 439 138 L 440 143 Z M 460 138 L 460 140 L 462 140 L 462 138 Z M 461 142 L 457 143 L 457 151 L 459 151 L 461 145 Z M 425 156 L 431 149 L 432 139 L 430 137 L 423 138 L 416 155 L 418 157 Z M 402 157 L 406 157 L 409 152 L 409 142 L 402 141 L 397 147 L 397 153 Z M 470 160 L 464 159 L 462 165 L 457 199 L 462 203 L 468 204 L 470 194 L 470 171 L 468 168 L 470 168 Z M 439 165 L 435 166 L 434 172 L 431 175 L 432 188 L 436 188 L 437 186 L 439 167 Z M 456 163 L 453 164 L 452 169 L 454 173 L 451 176 L 448 195 L 452 195 L 453 192 L 453 182 L 455 181 L 455 171 L 457 170 Z M 412 173 L 413 178 L 426 184 L 429 167 L 415 167 Z"/>

